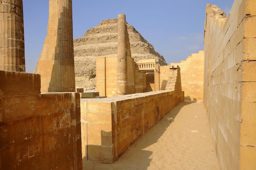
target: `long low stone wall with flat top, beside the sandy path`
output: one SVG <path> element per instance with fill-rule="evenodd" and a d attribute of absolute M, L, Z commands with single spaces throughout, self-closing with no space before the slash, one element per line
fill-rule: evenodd
<path fill-rule="evenodd" d="M 180 90 L 81 99 L 83 159 L 113 163 L 174 106 Z"/>

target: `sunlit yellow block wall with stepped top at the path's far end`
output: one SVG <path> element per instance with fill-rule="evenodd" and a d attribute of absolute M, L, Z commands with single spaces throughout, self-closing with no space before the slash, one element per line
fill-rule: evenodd
<path fill-rule="evenodd" d="M 185 100 L 203 100 L 204 84 L 204 51 L 193 53 L 179 65 L 182 89 L 185 92 Z"/>

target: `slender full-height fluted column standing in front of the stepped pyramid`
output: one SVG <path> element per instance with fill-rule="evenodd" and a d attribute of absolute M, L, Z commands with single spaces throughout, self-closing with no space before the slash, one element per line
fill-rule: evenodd
<path fill-rule="evenodd" d="M 127 45 L 128 38 L 125 14 L 118 15 L 118 47 L 117 47 L 117 96 L 125 95 L 127 90 Z M 128 39 L 129 42 L 129 39 Z"/>

